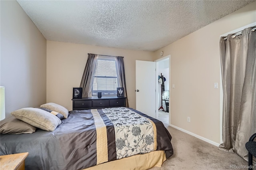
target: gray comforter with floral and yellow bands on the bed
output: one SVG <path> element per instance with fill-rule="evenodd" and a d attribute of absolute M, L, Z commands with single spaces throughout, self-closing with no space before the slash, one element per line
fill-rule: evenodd
<path fill-rule="evenodd" d="M 135 119 L 142 119 L 136 116 L 137 113 L 148 120 L 150 119 L 150 122 L 153 122 L 156 127 L 156 142 L 151 140 L 154 135 L 142 134 L 143 132 L 138 125 L 131 125 L 130 123 L 126 125 L 124 120 L 118 123 L 116 116 L 111 115 L 111 109 L 97 109 L 96 112 L 103 120 L 107 132 L 107 157 L 103 162 L 131 156 L 137 149 L 137 145 L 142 145 L 144 141 L 144 149 L 138 149 L 136 154 L 150 152 L 149 146 L 154 143 L 156 143 L 155 150 L 165 150 L 166 158 L 173 154 L 172 137 L 161 121 L 131 108 L 112 108 L 115 113 L 118 113 L 118 109 L 122 109 L 123 115 L 121 117 L 126 117 L 124 113 L 128 112 L 128 114 L 134 114 Z M 99 145 L 96 142 L 98 136 L 96 126 L 98 125 L 95 125 L 95 119 L 90 109 L 74 110 L 70 111 L 68 118 L 62 120 L 62 124 L 54 131 L 37 129 L 32 134 L 1 134 L 0 155 L 29 152 L 25 160 L 27 170 L 78 170 L 102 163 L 97 162 L 97 146 L 99 147 Z M 147 121 L 144 122 L 147 125 L 147 130 L 151 128 Z M 140 123 L 140 125 L 142 124 Z M 122 126 L 128 130 L 124 133 L 124 137 L 116 137 L 115 129 L 122 130 Z M 128 132 L 131 134 L 128 134 Z M 138 137 L 141 142 L 139 143 L 136 139 L 128 141 L 129 136 Z M 126 146 L 128 149 L 125 149 Z M 126 153 L 122 154 L 120 152 L 117 154 L 117 151 L 120 150 L 125 150 Z M 128 150 L 130 150 L 130 154 L 128 154 Z"/>

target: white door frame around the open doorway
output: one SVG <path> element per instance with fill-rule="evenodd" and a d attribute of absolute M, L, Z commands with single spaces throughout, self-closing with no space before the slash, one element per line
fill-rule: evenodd
<path fill-rule="evenodd" d="M 162 61 L 164 59 L 168 59 L 169 58 L 169 125 L 171 124 L 171 55 L 166 55 L 165 57 L 162 57 L 160 59 L 156 59 L 154 62 L 156 62 L 156 73 L 158 75 L 158 62 Z M 158 104 L 159 104 L 159 100 L 158 100 L 158 96 L 159 96 L 159 92 L 158 92 L 158 76 L 156 76 L 156 109 L 158 109 Z M 162 102 L 162 101 L 161 101 Z M 156 119 L 158 119 L 158 110 L 156 111 Z"/>

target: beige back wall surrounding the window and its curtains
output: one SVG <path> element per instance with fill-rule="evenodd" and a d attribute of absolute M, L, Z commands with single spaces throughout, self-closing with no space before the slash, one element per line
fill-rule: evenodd
<path fill-rule="evenodd" d="M 72 90 L 79 87 L 88 53 L 124 57 L 130 107 L 135 101 L 135 60 L 153 61 L 153 52 L 47 41 L 47 102 L 72 110 Z"/>

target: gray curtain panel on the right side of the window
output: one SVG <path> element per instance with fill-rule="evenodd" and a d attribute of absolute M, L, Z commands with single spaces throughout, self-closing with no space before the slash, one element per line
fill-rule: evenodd
<path fill-rule="evenodd" d="M 127 90 L 126 90 L 126 81 L 124 73 L 124 57 L 116 56 L 116 74 L 118 87 L 124 87 L 124 97 L 126 97 L 126 107 L 129 107 Z"/>

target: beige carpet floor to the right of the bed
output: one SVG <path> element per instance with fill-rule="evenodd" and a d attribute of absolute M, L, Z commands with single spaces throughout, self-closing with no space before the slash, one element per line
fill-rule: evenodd
<path fill-rule="evenodd" d="M 161 168 L 153 167 L 150 170 L 246 169 L 242 166 L 247 166 L 248 162 L 237 154 L 224 152 L 219 150 L 217 146 L 170 127 L 165 123 L 164 125 L 172 135 L 174 154 L 164 161 Z"/>

